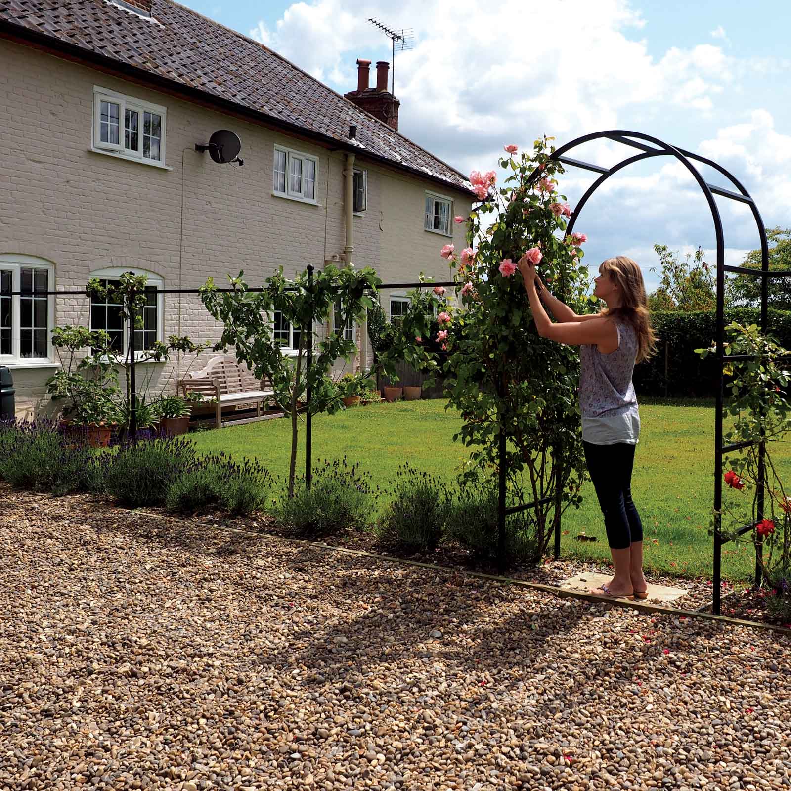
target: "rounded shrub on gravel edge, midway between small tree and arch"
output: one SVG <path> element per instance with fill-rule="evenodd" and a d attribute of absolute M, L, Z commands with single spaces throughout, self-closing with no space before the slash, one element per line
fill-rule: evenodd
<path fill-rule="evenodd" d="M 399 467 L 397 476 L 395 497 L 377 527 L 377 536 L 395 540 L 407 550 L 432 551 L 448 522 L 448 487 L 409 464 Z"/>

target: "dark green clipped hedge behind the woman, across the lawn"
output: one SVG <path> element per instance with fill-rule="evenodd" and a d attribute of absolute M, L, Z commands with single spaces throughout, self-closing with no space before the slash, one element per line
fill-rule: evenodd
<path fill-rule="evenodd" d="M 657 333 L 657 354 L 634 366 L 634 388 L 641 395 L 675 395 L 713 398 L 717 395 L 717 361 L 702 360 L 695 349 L 710 346 L 716 335 L 716 313 L 712 310 L 692 312 L 657 311 L 651 314 Z M 759 308 L 730 308 L 725 311 L 725 326 L 760 324 Z M 778 342 L 791 347 L 791 311 L 769 309 L 769 333 Z M 665 345 L 668 373 L 665 376 Z"/>

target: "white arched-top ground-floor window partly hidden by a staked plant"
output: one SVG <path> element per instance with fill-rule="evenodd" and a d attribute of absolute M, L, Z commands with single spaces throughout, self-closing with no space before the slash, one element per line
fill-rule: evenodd
<path fill-rule="evenodd" d="M 165 339 L 165 305 L 161 289 L 164 281 L 157 274 L 142 269 L 123 267 L 108 267 L 91 272 L 92 278 L 99 278 L 101 285 L 107 288 L 115 286 L 124 272 L 145 274 L 146 278 L 146 305 L 142 307 L 142 326 L 134 329 L 132 346 L 136 357 L 144 356 L 148 349 L 153 348 L 155 341 Z M 110 346 L 119 356 L 123 356 L 129 349 L 129 322 L 123 319 L 121 312 L 123 306 L 115 301 L 112 294 L 104 297 L 91 297 L 89 327 L 91 330 L 104 330 L 110 336 Z"/>

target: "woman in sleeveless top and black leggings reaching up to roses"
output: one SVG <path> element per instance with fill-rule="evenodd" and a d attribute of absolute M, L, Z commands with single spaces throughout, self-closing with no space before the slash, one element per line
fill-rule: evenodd
<path fill-rule="evenodd" d="M 519 262 L 524 288 L 539 335 L 580 346 L 580 411 L 585 461 L 604 514 L 615 575 L 591 592 L 611 598 L 645 599 L 642 571 L 642 523 L 631 495 L 634 449 L 640 437 L 640 415 L 632 372 L 655 351 L 640 267 L 625 255 L 599 267 L 593 294 L 607 309 L 577 316 L 543 287 L 536 267 Z M 540 297 L 539 297 L 540 294 Z M 553 324 L 542 301 L 552 312 Z"/>

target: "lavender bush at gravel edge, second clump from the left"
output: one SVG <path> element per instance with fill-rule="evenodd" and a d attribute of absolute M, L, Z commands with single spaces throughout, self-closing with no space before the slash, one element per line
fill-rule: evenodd
<path fill-rule="evenodd" d="M 185 437 L 121 445 L 108 464 L 108 494 L 127 508 L 163 505 L 168 489 L 195 464 L 195 448 Z"/>

